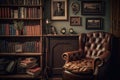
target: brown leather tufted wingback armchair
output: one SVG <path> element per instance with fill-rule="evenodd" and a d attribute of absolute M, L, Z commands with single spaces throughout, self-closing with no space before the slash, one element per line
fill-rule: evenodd
<path fill-rule="evenodd" d="M 62 55 L 65 60 L 63 80 L 105 80 L 111 43 L 112 35 L 107 32 L 81 34 L 79 50 Z"/>

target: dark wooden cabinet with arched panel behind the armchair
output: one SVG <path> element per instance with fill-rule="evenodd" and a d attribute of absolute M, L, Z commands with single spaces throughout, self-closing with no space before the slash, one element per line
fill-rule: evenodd
<path fill-rule="evenodd" d="M 66 51 L 78 50 L 78 35 L 56 35 L 47 38 L 47 66 L 50 77 L 60 77 L 65 61 L 62 54 Z"/>

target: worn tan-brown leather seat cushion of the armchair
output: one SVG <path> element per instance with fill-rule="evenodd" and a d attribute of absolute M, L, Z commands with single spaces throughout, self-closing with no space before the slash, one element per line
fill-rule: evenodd
<path fill-rule="evenodd" d="M 77 61 L 71 61 L 66 63 L 63 68 L 73 73 L 86 74 L 93 73 L 94 60 L 93 59 L 81 59 Z"/>

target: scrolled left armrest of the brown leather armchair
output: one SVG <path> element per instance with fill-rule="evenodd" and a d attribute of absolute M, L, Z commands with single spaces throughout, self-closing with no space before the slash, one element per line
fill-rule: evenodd
<path fill-rule="evenodd" d="M 62 58 L 66 62 L 79 60 L 82 56 L 83 56 L 82 50 L 70 51 L 70 52 L 65 52 L 62 54 Z"/>

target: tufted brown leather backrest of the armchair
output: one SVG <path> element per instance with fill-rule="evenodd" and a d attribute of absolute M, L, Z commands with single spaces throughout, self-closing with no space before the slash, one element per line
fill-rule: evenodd
<path fill-rule="evenodd" d="M 107 32 L 90 32 L 84 35 L 84 53 L 88 58 L 98 58 L 111 49 L 111 34 Z M 104 57 L 105 57 L 104 56 Z"/>

